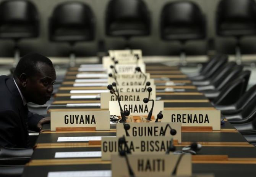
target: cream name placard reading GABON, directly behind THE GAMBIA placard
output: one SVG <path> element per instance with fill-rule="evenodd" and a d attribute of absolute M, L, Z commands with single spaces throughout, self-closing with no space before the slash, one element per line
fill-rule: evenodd
<path fill-rule="evenodd" d="M 109 78 L 109 84 L 115 82 L 113 78 Z M 151 85 L 154 85 L 154 79 L 119 79 L 117 80 L 118 86 L 145 86 L 146 82 L 150 82 Z"/>

